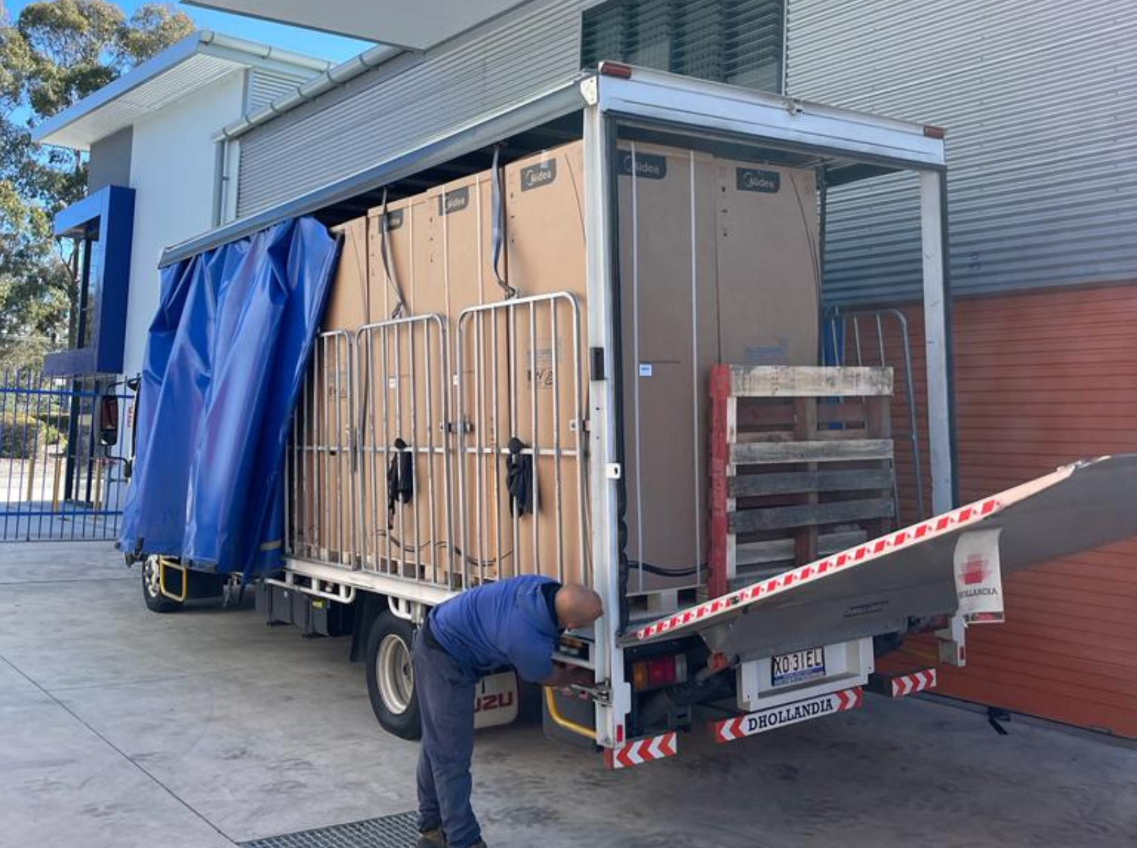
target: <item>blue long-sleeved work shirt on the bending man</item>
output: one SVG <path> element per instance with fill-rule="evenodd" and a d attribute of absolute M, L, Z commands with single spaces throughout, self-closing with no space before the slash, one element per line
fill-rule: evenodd
<path fill-rule="evenodd" d="M 524 680 L 553 674 L 561 635 L 542 585 L 550 577 L 523 576 L 468 589 L 430 614 L 430 632 L 457 663 L 482 675 L 512 665 Z"/>

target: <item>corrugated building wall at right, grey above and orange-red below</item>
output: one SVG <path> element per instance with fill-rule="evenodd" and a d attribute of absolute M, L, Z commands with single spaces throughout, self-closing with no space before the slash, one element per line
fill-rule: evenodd
<path fill-rule="evenodd" d="M 787 20 L 788 93 L 948 130 L 953 290 L 985 294 L 954 306 L 961 498 L 1137 450 L 1137 5 L 789 0 Z M 912 176 L 829 213 L 827 300 L 919 297 Z M 940 691 L 1137 737 L 1137 541 L 1012 576 L 1006 612 Z M 929 663 L 921 639 L 882 665 Z"/>

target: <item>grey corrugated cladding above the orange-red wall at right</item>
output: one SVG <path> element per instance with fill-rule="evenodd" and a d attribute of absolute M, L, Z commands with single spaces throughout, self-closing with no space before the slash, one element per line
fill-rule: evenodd
<path fill-rule="evenodd" d="M 947 127 L 956 293 L 1137 280 L 1137 3 L 789 0 L 787 17 L 789 94 Z M 916 209 L 912 177 L 831 192 L 827 300 L 918 294 Z"/>

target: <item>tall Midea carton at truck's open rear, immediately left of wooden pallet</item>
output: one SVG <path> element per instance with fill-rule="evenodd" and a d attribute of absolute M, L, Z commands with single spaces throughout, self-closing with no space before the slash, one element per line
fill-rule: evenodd
<path fill-rule="evenodd" d="M 629 591 L 694 585 L 706 562 L 704 415 L 720 322 L 715 164 L 622 146 L 620 278 Z"/>

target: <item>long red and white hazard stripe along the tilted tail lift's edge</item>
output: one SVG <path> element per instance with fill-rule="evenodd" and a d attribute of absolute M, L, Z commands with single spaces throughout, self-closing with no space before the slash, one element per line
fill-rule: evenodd
<path fill-rule="evenodd" d="M 997 513 L 1003 506 L 1003 501 L 998 498 L 978 500 L 960 509 L 953 509 L 951 513 L 944 513 L 935 518 L 897 530 L 895 533 L 882 535 L 864 544 L 858 544 L 855 548 L 843 550 L 840 554 L 833 554 L 808 565 L 803 565 L 799 568 L 785 572 L 761 583 L 745 587 L 737 592 L 723 595 L 714 600 L 690 607 L 677 615 L 661 618 L 637 630 L 636 637 L 640 640 L 652 639 L 669 631 L 678 630 L 691 622 L 713 618 L 730 612 L 731 608 L 739 604 L 745 604 L 761 597 L 779 595 L 791 587 L 810 583 L 850 566 L 863 565 L 901 548 L 907 548 L 918 542 L 924 542 L 935 537 L 958 530 L 962 526 L 973 524 Z"/>

